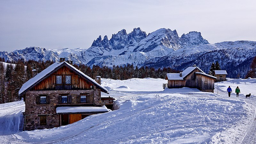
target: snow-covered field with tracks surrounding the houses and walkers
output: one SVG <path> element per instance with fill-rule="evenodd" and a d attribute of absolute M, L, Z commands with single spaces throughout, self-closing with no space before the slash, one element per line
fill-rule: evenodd
<path fill-rule="evenodd" d="M 53 129 L 21 132 L 24 102 L 0 104 L 0 143 L 256 143 L 256 79 L 215 83 L 214 93 L 163 83 L 102 79 L 110 93 L 102 96 L 116 98 L 117 110 Z"/>

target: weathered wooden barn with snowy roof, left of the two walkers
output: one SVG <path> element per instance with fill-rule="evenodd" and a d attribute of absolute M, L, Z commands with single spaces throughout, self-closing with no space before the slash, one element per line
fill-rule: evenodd
<path fill-rule="evenodd" d="M 197 88 L 203 92 L 213 92 L 215 76 L 205 74 L 200 68 L 194 65 L 180 73 L 167 73 L 168 88 Z"/>

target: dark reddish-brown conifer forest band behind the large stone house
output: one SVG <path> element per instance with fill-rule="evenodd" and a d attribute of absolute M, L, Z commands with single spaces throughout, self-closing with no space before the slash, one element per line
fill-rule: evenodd
<path fill-rule="evenodd" d="M 53 61 L 35 61 L 35 60 L 17 60 L 8 61 L 10 64 L 4 66 L 4 59 L 0 59 L 0 103 L 7 103 L 20 100 L 19 90 L 21 86 L 33 77 L 32 69 L 36 69 L 38 73 L 53 64 Z M 15 64 L 15 65 L 14 65 Z M 100 67 L 93 65 L 92 68 L 87 65 L 73 65 L 80 69 L 84 74 L 95 78 L 111 79 L 130 79 L 130 78 L 165 78 L 166 73 L 176 73 L 176 70 L 171 68 L 149 68 L 149 67 L 134 67 L 127 64 L 126 66 Z"/>

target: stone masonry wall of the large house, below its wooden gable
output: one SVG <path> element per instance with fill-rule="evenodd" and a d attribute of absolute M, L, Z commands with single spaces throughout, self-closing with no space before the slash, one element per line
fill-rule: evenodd
<path fill-rule="evenodd" d="M 69 93 L 68 95 L 72 96 L 71 104 L 58 104 L 58 96 L 60 94 Z M 90 103 L 77 103 L 77 95 L 80 93 L 90 93 Z M 25 130 L 34 130 L 34 129 L 44 129 L 44 128 L 53 128 L 60 126 L 59 124 L 59 115 L 56 114 L 56 108 L 59 106 L 67 105 L 87 105 L 92 106 L 93 101 L 94 105 L 101 105 L 101 91 L 96 87 L 94 90 L 56 90 L 56 91 L 28 91 L 26 92 L 26 101 L 25 101 Z M 36 104 L 36 96 L 40 94 L 47 94 L 50 97 L 49 104 Z M 30 115 L 30 116 L 29 116 Z M 32 116 L 31 116 L 32 115 Z M 47 116 L 47 124 L 40 125 L 40 116 Z"/>

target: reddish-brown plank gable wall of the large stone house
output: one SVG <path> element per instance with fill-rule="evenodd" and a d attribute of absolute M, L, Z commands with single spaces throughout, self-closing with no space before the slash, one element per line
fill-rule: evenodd
<path fill-rule="evenodd" d="M 65 75 L 71 76 L 71 87 L 72 89 L 91 89 L 92 84 L 86 81 L 81 76 L 78 76 L 74 71 L 69 69 L 66 66 L 61 67 L 56 72 L 54 72 L 52 75 L 45 78 L 41 83 L 34 86 L 32 90 L 55 90 L 56 86 L 56 76 L 61 75 L 63 78 L 63 81 L 65 81 Z"/>

